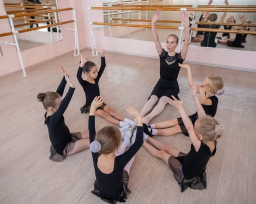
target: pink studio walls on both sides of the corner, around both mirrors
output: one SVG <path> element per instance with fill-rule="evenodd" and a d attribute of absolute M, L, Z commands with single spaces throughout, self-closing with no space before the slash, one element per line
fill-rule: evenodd
<path fill-rule="evenodd" d="M 91 6 L 102 6 L 102 1 L 61 0 L 58 1 L 58 6 L 59 8 L 75 8 L 78 19 L 77 24 L 80 50 L 85 47 L 91 47 L 87 8 Z M 0 15 L 6 15 L 3 0 L 0 0 Z M 92 16 L 95 22 L 103 22 L 102 10 L 92 10 Z M 61 13 L 60 18 L 61 21 L 70 20 L 71 12 L 69 11 Z M 11 31 L 7 19 L 0 20 L 0 27 L 1 32 Z M 74 50 L 74 32 L 65 30 L 65 27 L 74 26 L 73 24 L 65 24 L 63 26 L 63 40 L 23 51 L 22 58 L 25 67 L 32 66 L 34 64 L 46 61 L 47 59 L 54 58 L 58 55 Z M 94 26 L 94 35 L 96 44 L 101 45 L 104 50 L 145 57 L 157 57 L 157 52 L 155 51 L 153 42 L 105 37 L 104 30 L 100 28 L 97 29 L 97 26 Z M 2 42 L 6 40 L 13 42 L 13 37 L 0 37 L 0 45 L 2 53 L 4 54 L 4 56 L 0 57 L 0 76 L 21 69 L 15 46 L 2 45 Z M 36 53 L 36 57 L 32 57 L 34 56 L 34 53 Z M 251 51 L 224 50 L 218 48 L 190 46 L 186 60 L 198 62 L 200 64 L 256 70 L 256 52 Z M 22 76 L 21 71 L 19 74 Z"/>

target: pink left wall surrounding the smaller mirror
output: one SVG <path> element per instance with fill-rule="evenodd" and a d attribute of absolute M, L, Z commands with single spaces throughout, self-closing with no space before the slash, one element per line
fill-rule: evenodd
<path fill-rule="evenodd" d="M 59 8 L 70 7 L 69 1 L 59 1 Z M 66 11 L 60 14 L 61 21 L 72 19 L 71 11 Z M 6 15 L 4 9 L 4 2 L 0 0 L 0 15 Z M 11 31 L 8 19 L 0 19 L 1 32 Z M 63 40 L 51 44 L 42 45 L 30 50 L 22 51 L 23 64 L 25 68 L 46 61 L 47 59 L 57 57 L 58 55 L 65 54 L 66 52 L 74 50 L 74 31 L 65 30 L 65 27 L 73 28 L 74 24 L 64 24 L 63 26 Z M 4 28 L 4 29 L 2 29 Z M 82 39 L 82 37 L 80 36 Z M 3 41 L 9 40 L 14 43 L 12 36 L 0 37 L 0 45 L 3 56 L 0 57 L 0 76 L 6 75 L 11 72 L 19 71 L 22 76 L 20 61 L 16 47 L 13 45 L 2 45 Z M 81 43 L 81 42 L 80 42 Z M 82 41 L 83 43 L 83 41 Z M 82 44 L 81 44 L 82 45 Z M 29 74 L 29 73 L 27 73 Z"/>

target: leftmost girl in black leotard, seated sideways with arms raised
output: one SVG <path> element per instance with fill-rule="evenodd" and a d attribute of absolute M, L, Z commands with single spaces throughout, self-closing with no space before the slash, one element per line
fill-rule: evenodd
<path fill-rule="evenodd" d="M 37 100 L 42 102 L 43 107 L 46 109 L 44 124 L 47 125 L 51 141 L 51 155 L 49 159 L 53 161 L 63 161 L 65 157 L 89 147 L 88 132 L 72 133 L 65 124 L 63 114 L 70 103 L 75 86 L 62 66 L 61 71 L 64 76 L 56 92 L 37 94 Z M 62 99 L 61 96 L 63 95 L 66 83 L 70 85 L 70 88 Z"/>

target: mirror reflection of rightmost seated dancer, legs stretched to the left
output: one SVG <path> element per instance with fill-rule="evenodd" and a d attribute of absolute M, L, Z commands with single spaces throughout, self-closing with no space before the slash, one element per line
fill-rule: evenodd
<path fill-rule="evenodd" d="M 245 20 L 245 16 L 239 16 L 241 23 L 247 23 L 247 20 Z M 237 29 L 233 28 L 234 30 L 245 30 L 246 27 L 245 26 L 238 26 Z M 250 30 L 250 29 L 249 29 Z M 227 44 L 227 46 L 229 47 L 240 47 L 240 48 L 244 48 L 244 45 L 242 45 L 241 43 L 245 43 L 245 37 L 247 36 L 247 34 L 240 34 L 237 33 L 235 38 L 231 38 L 231 39 L 226 39 L 226 40 L 219 40 L 219 43 L 222 44 Z"/>

